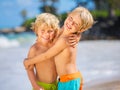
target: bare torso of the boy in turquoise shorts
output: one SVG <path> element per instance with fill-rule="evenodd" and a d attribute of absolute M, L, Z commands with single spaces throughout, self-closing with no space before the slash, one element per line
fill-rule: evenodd
<path fill-rule="evenodd" d="M 68 47 L 55 57 L 55 64 L 59 76 L 77 72 L 76 47 Z"/>

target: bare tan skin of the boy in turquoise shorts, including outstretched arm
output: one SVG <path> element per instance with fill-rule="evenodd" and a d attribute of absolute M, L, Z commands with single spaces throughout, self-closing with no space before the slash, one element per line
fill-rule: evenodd
<path fill-rule="evenodd" d="M 72 21 L 70 21 L 70 17 L 72 17 Z M 81 25 L 81 20 L 78 19 L 78 15 L 76 13 L 72 13 L 66 19 L 64 23 L 64 30 L 55 45 L 47 50 L 45 53 L 42 53 L 34 58 L 29 59 L 29 61 L 25 61 L 25 67 L 28 68 L 29 65 L 45 61 L 49 58 L 55 57 L 55 64 L 57 73 L 59 76 L 66 75 L 70 73 L 77 72 L 76 68 L 76 46 L 70 47 L 65 38 L 69 36 L 71 33 L 80 33 L 78 29 Z M 70 23 L 71 22 L 71 23 Z M 75 23 L 77 22 L 77 23 Z M 81 31 L 82 32 L 82 31 Z M 40 58 L 40 59 L 39 59 Z"/>

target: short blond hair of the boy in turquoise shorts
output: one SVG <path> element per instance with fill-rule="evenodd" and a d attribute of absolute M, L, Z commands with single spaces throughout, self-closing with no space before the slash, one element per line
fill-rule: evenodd
<path fill-rule="evenodd" d="M 79 6 L 79 7 L 75 8 L 70 13 L 74 13 L 74 12 L 76 12 L 76 13 L 78 13 L 80 15 L 80 19 L 82 21 L 82 25 L 80 27 L 80 30 L 84 29 L 84 31 L 85 31 L 85 30 L 88 30 L 89 28 L 92 27 L 92 25 L 94 24 L 94 19 L 93 19 L 93 16 L 89 12 L 88 9 Z"/>

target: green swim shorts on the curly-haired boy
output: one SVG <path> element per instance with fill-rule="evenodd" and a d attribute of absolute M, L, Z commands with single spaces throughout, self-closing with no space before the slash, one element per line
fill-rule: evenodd
<path fill-rule="evenodd" d="M 37 82 L 37 84 L 39 86 L 43 87 L 44 90 L 58 90 L 57 89 L 57 85 L 58 85 L 57 83 L 58 83 L 57 81 L 55 81 L 54 83 L 51 83 L 51 84 L 44 83 L 44 82 Z"/>

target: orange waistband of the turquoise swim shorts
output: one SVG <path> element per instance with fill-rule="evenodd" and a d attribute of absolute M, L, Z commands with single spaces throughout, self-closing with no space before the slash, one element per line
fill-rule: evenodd
<path fill-rule="evenodd" d="M 67 82 L 69 80 L 74 80 L 77 78 L 82 79 L 82 74 L 80 72 L 63 75 L 60 77 L 60 82 Z"/>

